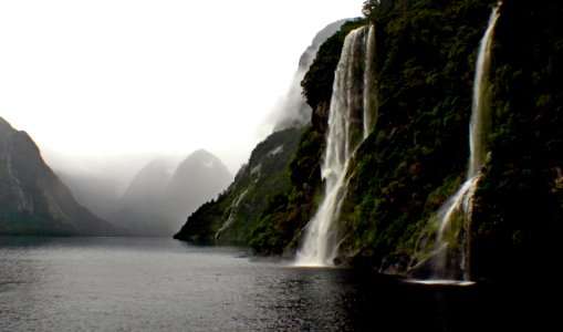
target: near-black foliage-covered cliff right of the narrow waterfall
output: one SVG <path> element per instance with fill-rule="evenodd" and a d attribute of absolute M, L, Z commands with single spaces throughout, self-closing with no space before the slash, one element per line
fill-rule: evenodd
<path fill-rule="evenodd" d="M 538 272 L 563 234 L 563 4 L 505 1 L 493 50 L 491 162 L 475 214 L 473 272 Z"/>

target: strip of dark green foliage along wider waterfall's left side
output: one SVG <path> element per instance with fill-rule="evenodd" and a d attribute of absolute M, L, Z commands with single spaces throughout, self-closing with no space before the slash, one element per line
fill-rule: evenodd
<path fill-rule="evenodd" d="M 313 125 L 301 137 L 298 152 L 290 164 L 291 187 L 283 193 L 285 198 L 274 199 L 269 204 L 259 226 L 249 237 L 250 245 L 259 253 L 279 255 L 294 250 L 299 245 L 301 230 L 313 216 L 317 200 L 321 199 L 321 159 L 334 72 L 345 37 L 365 23 L 364 19 L 344 23 L 338 32 L 321 45 L 301 82 L 307 103 L 314 110 Z"/>

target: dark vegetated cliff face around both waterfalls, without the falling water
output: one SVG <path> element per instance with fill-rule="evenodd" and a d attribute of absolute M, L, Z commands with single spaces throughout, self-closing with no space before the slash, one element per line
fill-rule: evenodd
<path fill-rule="evenodd" d="M 341 261 L 407 274 L 428 220 L 463 181 L 475 63 L 496 1 L 367 1 L 376 29 L 378 116 L 348 168 Z M 472 278 L 523 272 L 559 256 L 563 235 L 563 4 L 505 0 L 492 50 L 490 158 L 471 222 Z M 303 81 L 313 127 L 291 163 L 292 188 L 264 211 L 250 242 L 292 252 L 322 195 L 323 153 L 341 32 Z M 293 224 L 292 224 L 293 222 Z M 291 225 L 288 227 L 288 225 Z M 534 270 L 526 268 L 526 271 Z"/>

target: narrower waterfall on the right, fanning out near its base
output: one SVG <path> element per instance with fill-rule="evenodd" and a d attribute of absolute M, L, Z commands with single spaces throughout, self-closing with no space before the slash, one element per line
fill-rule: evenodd
<path fill-rule="evenodd" d="M 482 168 L 486 157 L 487 147 L 484 138 L 489 133 L 490 105 L 489 105 L 489 66 L 491 58 L 491 45 L 494 25 L 499 18 L 499 6 L 494 8 L 489 19 L 489 25 L 481 39 L 479 54 L 476 63 L 476 74 L 473 82 L 473 98 L 471 106 L 471 123 L 469 125 L 469 169 L 466 176 L 466 181 L 461 185 L 458 191 L 451 196 L 447 203 L 438 210 L 438 218 L 440 220 L 438 236 L 437 236 L 437 255 L 435 276 L 436 279 L 458 279 L 469 280 L 469 243 L 470 243 L 470 229 L 471 229 L 471 215 L 472 215 L 472 199 L 477 188 L 477 183 L 481 176 L 480 169 Z M 460 231 L 455 227 L 453 220 L 457 216 L 462 218 L 462 228 L 465 229 L 461 248 L 452 248 L 456 246 L 453 239 L 458 238 Z M 456 229 L 457 228 L 457 229 Z M 458 260 L 451 259 L 451 252 L 459 251 L 455 255 Z M 451 261 L 459 263 L 459 267 L 451 267 Z M 459 272 L 456 270 L 459 269 Z M 460 274 L 460 276 L 459 276 Z"/>

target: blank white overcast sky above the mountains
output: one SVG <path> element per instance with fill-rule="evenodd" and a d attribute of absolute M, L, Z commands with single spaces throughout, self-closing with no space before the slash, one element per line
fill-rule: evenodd
<path fill-rule="evenodd" d="M 188 155 L 231 172 L 299 56 L 363 0 L 0 0 L 0 116 L 66 157 Z"/>

